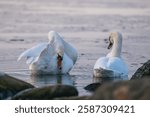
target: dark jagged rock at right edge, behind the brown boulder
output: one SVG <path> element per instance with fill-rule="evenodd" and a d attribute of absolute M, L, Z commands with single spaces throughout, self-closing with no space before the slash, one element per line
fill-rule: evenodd
<path fill-rule="evenodd" d="M 133 79 L 150 78 L 150 60 L 143 64 L 131 77 Z"/>

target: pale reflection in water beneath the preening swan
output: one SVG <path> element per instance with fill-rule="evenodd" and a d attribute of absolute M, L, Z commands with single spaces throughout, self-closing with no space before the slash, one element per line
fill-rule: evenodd
<path fill-rule="evenodd" d="M 35 86 L 66 84 L 74 85 L 73 76 L 67 75 L 31 75 L 31 82 Z"/>

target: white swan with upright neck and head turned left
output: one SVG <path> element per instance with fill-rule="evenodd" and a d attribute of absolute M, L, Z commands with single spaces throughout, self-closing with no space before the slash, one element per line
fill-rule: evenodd
<path fill-rule="evenodd" d="M 108 49 L 112 47 L 110 53 L 105 57 L 99 58 L 94 66 L 94 77 L 104 78 L 125 78 L 128 77 L 128 68 L 124 60 L 121 58 L 122 35 L 119 32 L 111 33 L 109 36 L 110 44 Z"/>

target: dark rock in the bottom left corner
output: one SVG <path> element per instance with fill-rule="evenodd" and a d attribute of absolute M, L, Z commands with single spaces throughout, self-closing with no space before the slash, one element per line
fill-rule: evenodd
<path fill-rule="evenodd" d="M 0 99 L 6 99 L 22 90 L 33 87 L 34 86 L 29 83 L 18 80 L 5 73 L 0 73 Z"/>

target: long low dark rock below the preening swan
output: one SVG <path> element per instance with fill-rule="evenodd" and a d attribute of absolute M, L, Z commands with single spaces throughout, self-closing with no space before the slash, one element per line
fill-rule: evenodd
<path fill-rule="evenodd" d="M 54 85 L 33 88 L 15 95 L 13 100 L 50 100 L 60 97 L 77 96 L 78 91 L 69 85 Z"/>

